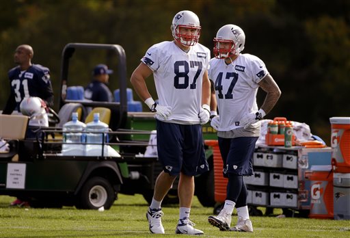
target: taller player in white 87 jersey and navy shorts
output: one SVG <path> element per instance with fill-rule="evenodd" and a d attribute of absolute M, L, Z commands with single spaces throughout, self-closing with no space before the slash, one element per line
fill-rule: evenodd
<path fill-rule="evenodd" d="M 164 233 L 161 202 L 176 176 L 180 215 L 176 233 L 201 235 L 189 220 L 196 174 L 208 171 L 204 155 L 201 124 L 210 116 L 210 51 L 198 43 L 200 21 L 191 11 L 178 12 L 172 21 L 173 41 L 154 44 L 137 66 L 131 83 L 135 91 L 155 113 L 157 150 L 163 171 L 159 174 L 152 203 L 146 213 L 151 233 Z M 154 103 L 146 86 L 151 74 L 159 103 Z"/>

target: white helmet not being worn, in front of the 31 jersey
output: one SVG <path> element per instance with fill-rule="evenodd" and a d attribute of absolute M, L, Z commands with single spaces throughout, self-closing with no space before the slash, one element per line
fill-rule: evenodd
<path fill-rule="evenodd" d="M 21 113 L 29 116 L 29 125 L 49 127 L 49 117 L 46 112 L 46 103 L 36 96 L 24 98 L 20 104 Z"/>

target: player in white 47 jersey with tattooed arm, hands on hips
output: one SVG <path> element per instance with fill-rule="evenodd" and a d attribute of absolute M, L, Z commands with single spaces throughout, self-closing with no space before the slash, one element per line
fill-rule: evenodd
<path fill-rule="evenodd" d="M 260 120 L 277 103 L 281 91 L 261 59 L 241 54 L 245 34 L 240 27 L 224 25 L 214 42 L 215 58 L 211 59 L 208 77 L 214 81 L 219 116 L 211 119 L 211 126 L 217 130 L 228 185 L 224 208 L 219 215 L 208 217 L 208 222 L 220 230 L 253 232 L 243 176 L 253 174 L 252 155 L 260 135 Z M 256 103 L 258 88 L 267 92 L 260 109 Z M 231 228 L 234 207 L 239 219 Z"/>

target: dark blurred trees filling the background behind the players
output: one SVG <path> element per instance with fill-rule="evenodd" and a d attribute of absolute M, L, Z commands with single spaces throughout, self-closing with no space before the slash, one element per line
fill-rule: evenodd
<path fill-rule="evenodd" d="M 31 44 L 33 62 L 51 69 L 58 110 L 61 54 L 66 44 L 120 44 L 130 77 L 148 47 L 172 40 L 172 18 L 184 9 L 200 17 L 200 42 L 209 49 L 219 27 L 241 26 L 247 36 L 243 53 L 260 57 L 282 90 L 268 118 L 285 116 L 306 122 L 312 133 L 329 144 L 329 117 L 349 116 L 350 111 L 350 1 L 346 0 L 0 1 L 0 109 L 8 98 L 7 72 L 14 66 L 18 44 Z M 79 58 L 70 68 L 75 83 L 87 85 L 92 68 L 101 62 L 115 64 L 99 53 Z M 148 85 L 155 96 L 152 77 Z"/>

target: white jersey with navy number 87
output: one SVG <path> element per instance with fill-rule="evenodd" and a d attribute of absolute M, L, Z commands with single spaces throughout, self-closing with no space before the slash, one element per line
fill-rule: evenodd
<path fill-rule="evenodd" d="M 208 70 L 210 51 L 197 43 L 188 53 L 174 42 L 154 44 L 141 59 L 152 71 L 159 105 L 172 107 L 169 122 L 199 124 L 202 78 Z M 164 120 L 156 115 L 159 120 Z"/>

